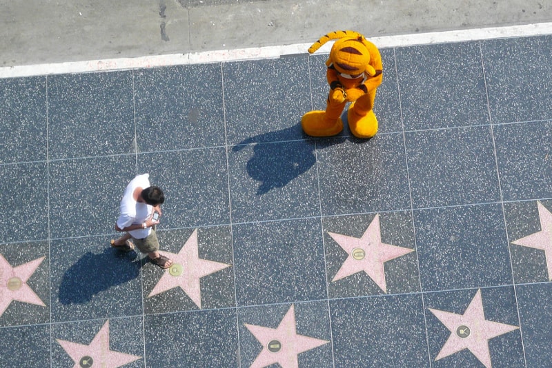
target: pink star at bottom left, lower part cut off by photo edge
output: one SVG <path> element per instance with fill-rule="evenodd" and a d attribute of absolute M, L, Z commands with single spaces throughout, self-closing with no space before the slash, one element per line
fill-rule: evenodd
<path fill-rule="evenodd" d="M 59 340 L 59 338 L 57 342 L 75 362 L 74 368 L 117 368 L 141 358 L 141 356 L 119 353 L 109 349 L 109 320 L 103 324 L 90 345 L 72 343 Z"/>

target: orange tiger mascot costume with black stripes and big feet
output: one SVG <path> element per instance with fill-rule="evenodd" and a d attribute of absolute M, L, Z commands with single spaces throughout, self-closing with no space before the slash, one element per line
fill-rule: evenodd
<path fill-rule="evenodd" d="M 301 119 L 303 131 L 310 136 L 334 136 L 343 130 L 341 114 L 347 102 L 351 132 L 358 138 L 370 138 L 377 132 L 377 119 L 372 110 L 377 87 L 382 83 L 383 65 L 380 51 L 362 34 L 354 31 L 335 31 L 313 43 L 309 53 L 324 43 L 333 44 L 326 61 L 326 78 L 330 93 L 326 111 L 307 112 Z"/>

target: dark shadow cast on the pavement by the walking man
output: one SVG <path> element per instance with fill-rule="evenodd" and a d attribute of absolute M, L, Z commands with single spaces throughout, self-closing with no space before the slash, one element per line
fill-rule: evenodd
<path fill-rule="evenodd" d="M 112 286 L 137 278 L 141 261 L 138 254 L 106 248 L 101 254 L 86 252 L 63 274 L 59 286 L 59 302 L 63 305 L 83 304 Z"/>

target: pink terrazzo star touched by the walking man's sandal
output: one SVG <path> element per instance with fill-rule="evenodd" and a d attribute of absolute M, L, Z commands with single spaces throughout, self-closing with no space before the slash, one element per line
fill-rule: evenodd
<path fill-rule="evenodd" d="M 180 287 L 197 307 L 201 308 L 201 288 L 199 279 L 214 274 L 230 265 L 213 260 L 200 259 L 197 251 L 197 229 L 194 230 L 178 254 L 159 252 L 172 259 L 172 265 L 165 270 L 148 298 Z"/>

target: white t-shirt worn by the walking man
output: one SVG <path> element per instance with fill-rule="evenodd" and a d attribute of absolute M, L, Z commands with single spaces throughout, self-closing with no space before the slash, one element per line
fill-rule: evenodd
<path fill-rule="evenodd" d="M 152 213 L 153 207 L 146 203 L 137 202 L 134 198 L 134 191 L 137 187 L 146 189 L 150 187 L 150 174 L 141 174 L 128 183 L 126 186 L 123 198 L 121 199 L 121 206 L 119 207 L 120 214 L 117 220 L 117 226 L 119 229 L 136 224 L 144 223 Z M 146 229 L 135 229 L 128 232 L 133 238 L 143 239 L 146 238 L 151 232 L 151 227 Z"/>

